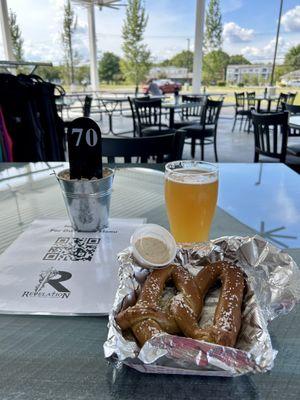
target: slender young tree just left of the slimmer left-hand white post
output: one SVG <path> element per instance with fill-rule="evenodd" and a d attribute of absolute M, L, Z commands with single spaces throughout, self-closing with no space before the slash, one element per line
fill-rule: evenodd
<path fill-rule="evenodd" d="M 67 72 L 67 80 L 69 83 L 74 83 L 74 59 L 76 54 L 73 49 L 73 34 L 76 31 L 77 18 L 72 9 L 70 0 L 64 4 L 64 19 L 63 19 L 63 32 L 61 35 L 62 45 L 64 49 L 65 67 Z"/>

